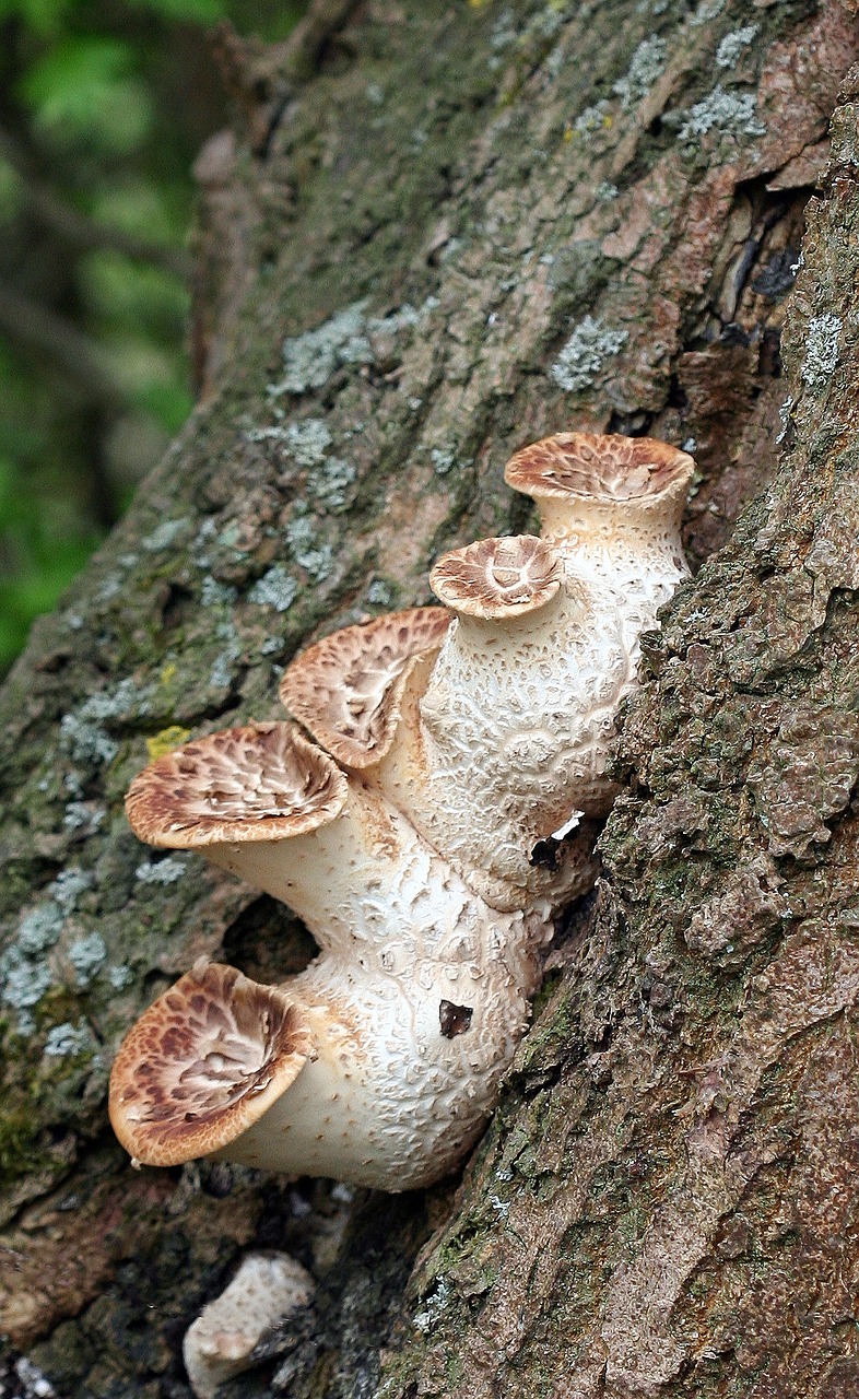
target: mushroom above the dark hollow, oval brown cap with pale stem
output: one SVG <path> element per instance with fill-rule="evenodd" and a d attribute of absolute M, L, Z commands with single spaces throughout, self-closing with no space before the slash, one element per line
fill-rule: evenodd
<path fill-rule="evenodd" d="M 196 849 L 288 904 L 323 949 L 353 947 L 400 918 L 416 832 L 291 723 L 175 748 L 134 778 L 126 811 L 141 841 Z"/>

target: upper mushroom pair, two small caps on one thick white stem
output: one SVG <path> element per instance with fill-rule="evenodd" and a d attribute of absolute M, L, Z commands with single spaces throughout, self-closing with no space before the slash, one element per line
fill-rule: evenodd
<path fill-rule="evenodd" d="M 693 470 L 686 452 L 646 438 L 547 438 L 506 469 L 537 501 L 541 541 L 484 540 L 432 571 L 457 623 L 407 681 L 376 781 L 497 907 L 512 907 L 498 880 L 519 891 L 511 900 L 576 891 L 578 852 L 554 876 L 532 862 L 617 793 L 609 741 L 641 632 L 688 575 L 680 516 Z"/>

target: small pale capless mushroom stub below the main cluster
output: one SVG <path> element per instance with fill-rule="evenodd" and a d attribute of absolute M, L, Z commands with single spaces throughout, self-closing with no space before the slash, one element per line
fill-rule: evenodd
<path fill-rule="evenodd" d="M 288 1254 L 249 1254 L 185 1333 L 182 1356 L 197 1399 L 214 1399 L 220 1385 L 246 1370 L 260 1342 L 308 1307 L 313 1291 L 313 1279 Z"/>

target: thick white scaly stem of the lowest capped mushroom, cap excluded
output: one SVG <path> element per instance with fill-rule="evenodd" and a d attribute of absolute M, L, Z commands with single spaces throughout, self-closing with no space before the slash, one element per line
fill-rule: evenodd
<path fill-rule="evenodd" d="M 502 915 L 459 887 L 459 926 L 416 930 L 348 964 L 320 957 L 280 992 L 301 1006 L 315 1058 L 225 1160 L 291 1177 L 322 1175 L 383 1191 L 417 1189 L 452 1171 L 480 1135 L 527 1028 L 551 923 Z M 423 925 L 423 926 L 421 926 Z"/>

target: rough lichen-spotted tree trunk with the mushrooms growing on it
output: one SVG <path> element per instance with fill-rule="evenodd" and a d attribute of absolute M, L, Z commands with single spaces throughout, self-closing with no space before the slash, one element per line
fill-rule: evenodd
<path fill-rule="evenodd" d="M 186 1395 L 182 1332 L 255 1244 L 319 1291 L 232 1393 L 848 1399 L 855 6 L 347 10 L 277 63 L 232 46 L 201 406 L 1 697 L 0 1392 Z M 295 646 L 425 600 L 439 548 L 522 529 L 504 462 L 582 427 L 694 450 L 707 562 L 464 1181 L 130 1171 L 105 1083 L 141 1007 L 200 953 L 276 979 L 308 943 L 140 846 L 129 779 L 176 727 L 276 715 Z"/>

